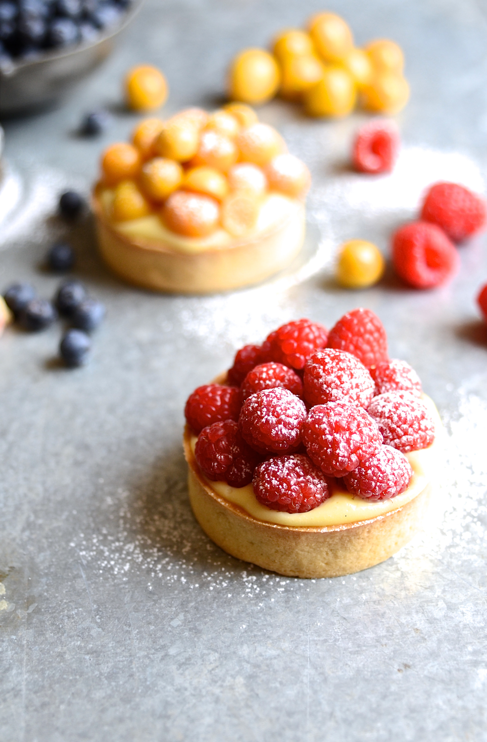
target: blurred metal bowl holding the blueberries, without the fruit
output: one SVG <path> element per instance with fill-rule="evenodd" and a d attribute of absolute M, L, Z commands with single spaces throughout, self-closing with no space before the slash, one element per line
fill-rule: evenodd
<path fill-rule="evenodd" d="M 138 13 L 142 2 L 134 0 L 120 23 L 100 33 L 96 42 L 45 52 L 38 59 L 13 61 L 8 67 L 0 68 L 1 115 L 21 114 L 62 98 L 112 52 L 118 36 Z"/>

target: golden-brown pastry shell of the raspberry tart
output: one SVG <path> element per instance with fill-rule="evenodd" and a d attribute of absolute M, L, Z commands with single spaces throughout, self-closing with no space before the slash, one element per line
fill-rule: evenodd
<path fill-rule="evenodd" d="M 189 500 L 207 536 L 232 557 L 287 577 L 341 577 L 384 562 L 422 525 L 431 485 L 402 508 L 373 519 L 324 528 L 290 528 L 257 520 L 219 496 L 200 474 L 186 426 Z"/>

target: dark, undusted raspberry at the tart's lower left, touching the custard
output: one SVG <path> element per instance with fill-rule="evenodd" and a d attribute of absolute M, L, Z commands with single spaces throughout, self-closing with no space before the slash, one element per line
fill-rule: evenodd
<path fill-rule="evenodd" d="M 261 460 L 242 438 L 235 420 L 204 427 L 196 441 L 195 459 L 208 479 L 232 487 L 249 485 Z"/>

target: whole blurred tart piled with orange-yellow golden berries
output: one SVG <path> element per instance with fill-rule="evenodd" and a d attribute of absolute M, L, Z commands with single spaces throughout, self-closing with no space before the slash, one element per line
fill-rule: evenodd
<path fill-rule="evenodd" d="M 310 173 L 252 108 L 145 119 L 102 155 L 99 249 L 147 289 L 209 293 L 284 269 L 304 241 Z"/>

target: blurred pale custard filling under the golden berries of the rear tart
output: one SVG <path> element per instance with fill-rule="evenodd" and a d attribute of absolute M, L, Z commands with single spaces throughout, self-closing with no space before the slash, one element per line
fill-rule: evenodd
<path fill-rule="evenodd" d="M 112 188 L 102 188 L 98 196 L 105 216 L 108 220 L 111 220 L 114 190 Z M 301 202 L 283 194 L 274 192 L 267 194 L 262 202 L 257 222 L 254 228 L 245 235 L 245 240 L 252 240 L 258 234 L 270 232 L 280 226 L 290 217 L 292 209 L 295 209 L 297 203 L 301 204 Z M 117 232 L 126 237 L 142 237 L 154 244 L 169 243 L 171 249 L 177 252 L 197 253 L 209 249 L 223 249 L 241 241 L 226 232 L 225 229 L 217 229 L 208 237 L 183 237 L 166 229 L 157 214 L 149 214 L 147 217 L 131 219 L 126 222 L 111 222 L 111 224 Z"/>

